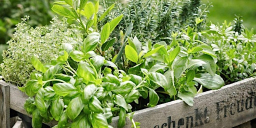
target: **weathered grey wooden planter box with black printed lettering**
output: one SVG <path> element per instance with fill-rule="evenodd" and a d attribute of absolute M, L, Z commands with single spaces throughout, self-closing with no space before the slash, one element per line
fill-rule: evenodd
<path fill-rule="evenodd" d="M 9 127 L 9 110 L 27 114 L 27 96 L 17 86 L 0 80 L 0 127 Z M 200 93 L 194 105 L 175 100 L 138 110 L 133 119 L 140 127 L 233 127 L 256 118 L 256 78 L 247 78 L 217 90 Z M 116 126 L 118 117 L 113 118 Z M 53 125 L 54 122 L 47 123 Z M 131 123 L 127 119 L 126 126 Z"/>

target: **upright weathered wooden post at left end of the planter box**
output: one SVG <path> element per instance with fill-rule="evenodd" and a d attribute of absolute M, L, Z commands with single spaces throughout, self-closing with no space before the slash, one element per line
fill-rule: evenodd
<path fill-rule="evenodd" d="M 0 127 L 10 127 L 9 86 L 0 82 Z"/>

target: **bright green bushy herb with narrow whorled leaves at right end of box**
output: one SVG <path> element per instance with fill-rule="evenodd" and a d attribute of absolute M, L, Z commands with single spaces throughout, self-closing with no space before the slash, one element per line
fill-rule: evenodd
<path fill-rule="evenodd" d="M 217 73 L 226 84 L 255 75 L 256 35 L 253 28 L 243 29 L 240 17 L 234 21 L 233 26 L 226 21 L 211 24 L 207 34 L 208 44 L 217 55 Z"/>

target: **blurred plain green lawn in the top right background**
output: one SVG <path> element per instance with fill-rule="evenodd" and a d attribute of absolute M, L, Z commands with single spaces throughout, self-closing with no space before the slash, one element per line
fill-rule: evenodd
<path fill-rule="evenodd" d="M 208 21 L 212 23 L 222 23 L 224 20 L 233 22 L 236 14 L 242 16 L 245 27 L 256 29 L 256 0 L 202 0 L 204 3 L 207 1 L 213 5 L 209 9 Z"/>

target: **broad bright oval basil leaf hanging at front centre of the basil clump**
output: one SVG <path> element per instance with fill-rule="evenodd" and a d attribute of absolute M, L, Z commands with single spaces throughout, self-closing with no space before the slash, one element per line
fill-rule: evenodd
<path fill-rule="evenodd" d="M 67 116 L 74 121 L 84 107 L 80 96 L 73 98 L 66 107 Z"/>

